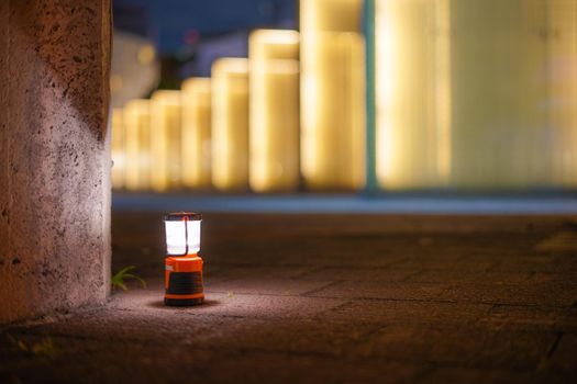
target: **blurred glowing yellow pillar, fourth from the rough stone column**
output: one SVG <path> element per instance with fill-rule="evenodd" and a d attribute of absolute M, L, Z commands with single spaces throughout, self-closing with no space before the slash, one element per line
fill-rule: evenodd
<path fill-rule="evenodd" d="M 182 83 L 182 184 L 209 188 L 211 82 L 207 78 Z"/>

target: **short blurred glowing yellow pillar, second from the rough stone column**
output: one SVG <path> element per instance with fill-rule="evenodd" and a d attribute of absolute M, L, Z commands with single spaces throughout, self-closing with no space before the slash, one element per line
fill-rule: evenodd
<path fill-rule="evenodd" d="M 148 100 L 132 100 L 124 106 L 126 151 L 125 187 L 131 191 L 151 188 L 151 110 Z"/>

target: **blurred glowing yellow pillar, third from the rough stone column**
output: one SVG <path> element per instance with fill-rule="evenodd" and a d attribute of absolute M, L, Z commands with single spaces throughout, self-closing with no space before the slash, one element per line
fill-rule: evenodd
<path fill-rule="evenodd" d="M 152 187 L 157 192 L 181 185 L 180 92 L 160 90 L 151 99 Z"/>

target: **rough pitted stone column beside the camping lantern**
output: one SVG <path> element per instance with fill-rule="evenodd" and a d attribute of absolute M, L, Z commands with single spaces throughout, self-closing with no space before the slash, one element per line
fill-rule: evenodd
<path fill-rule="evenodd" d="M 0 1 L 0 323 L 103 303 L 110 0 Z"/>

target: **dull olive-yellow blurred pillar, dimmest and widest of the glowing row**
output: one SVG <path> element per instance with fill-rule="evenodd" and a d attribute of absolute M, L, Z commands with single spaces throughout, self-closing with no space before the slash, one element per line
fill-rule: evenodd
<path fill-rule="evenodd" d="M 546 2 L 451 1 L 451 183 L 547 184 Z"/>

